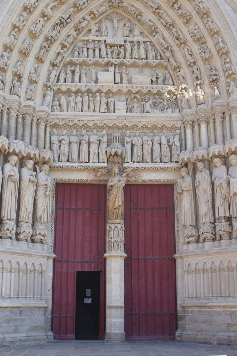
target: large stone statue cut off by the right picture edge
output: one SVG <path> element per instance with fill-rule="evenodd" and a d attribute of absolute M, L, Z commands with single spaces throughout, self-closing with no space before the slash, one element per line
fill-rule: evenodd
<path fill-rule="evenodd" d="M 237 218 L 237 156 L 231 155 L 230 158 L 231 167 L 229 168 L 229 174 L 227 176 L 230 181 L 230 213 L 233 219 Z"/>

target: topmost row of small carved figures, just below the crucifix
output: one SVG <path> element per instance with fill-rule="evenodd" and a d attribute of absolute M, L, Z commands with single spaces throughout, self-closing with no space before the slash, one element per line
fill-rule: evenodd
<path fill-rule="evenodd" d="M 125 47 L 125 48 L 124 48 Z M 156 51 L 152 42 L 145 43 L 134 41 L 133 44 L 126 41 L 125 46 L 109 46 L 104 43 L 92 40 L 84 41 L 82 45 L 74 47 L 74 58 L 95 58 L 95 59 L 148 59 L 149 61 L 160 60 L 160 52 Z"/>

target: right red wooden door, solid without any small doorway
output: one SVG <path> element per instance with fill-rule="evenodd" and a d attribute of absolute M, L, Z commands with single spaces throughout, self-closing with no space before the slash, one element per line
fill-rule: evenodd
<path fill-rule="evenodd" d="M 126 184 L 124 215 L 126 339 L 174 339 L 173 185 Z"/>

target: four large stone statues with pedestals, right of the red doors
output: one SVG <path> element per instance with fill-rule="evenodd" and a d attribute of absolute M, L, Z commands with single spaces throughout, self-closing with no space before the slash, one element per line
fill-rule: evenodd
<path fill-rule="evenodd" d="M 234 154 L 230 156 L 231 167 L 228 173 L 220 158 L 214 158 L 213 162 L 215 168 L 212 177 L 203 162 L 197 163 L 195 188 L 199 203 L 199 233 L 204 240 L 213 240 L 215 237 L 215 220 L 212 210 L 213 182 L 217 237 L 230 238 L 232 227 L 228 218 L 232 217 L 233 237 L 237 238 L 237 156 Z M 181 168 L 181 174 L 182 178 L 178 179 L 178 192 L 182 197 L 181 223 L 184 226 L 187 240 L 197 241 L 192 173 L 184 167 Z"/>

